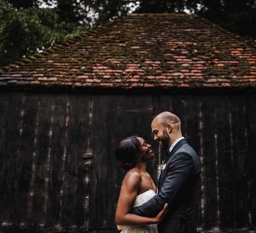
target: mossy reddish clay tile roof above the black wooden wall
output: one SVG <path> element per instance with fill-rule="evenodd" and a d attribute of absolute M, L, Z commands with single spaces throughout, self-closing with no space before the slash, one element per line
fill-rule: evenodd
<path fill-rule="evenodd" d="M 2 69 L 1 86 L 256 87 L 256 44 L 187 14 L 131 14 Z"/>

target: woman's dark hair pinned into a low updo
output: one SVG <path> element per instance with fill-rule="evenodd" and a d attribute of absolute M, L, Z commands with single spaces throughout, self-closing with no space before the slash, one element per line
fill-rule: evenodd
<path fill-rule="evenodd" d="M 140 141 L 137 136 L 127 137 L 115 149 L 115 156 L 121 162 L 121 168 L 127 172 L 140 160 Z"/>

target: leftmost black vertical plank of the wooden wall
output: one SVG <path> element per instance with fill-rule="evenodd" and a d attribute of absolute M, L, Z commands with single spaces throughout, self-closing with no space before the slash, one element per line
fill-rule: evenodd
<path fill-rule="evenodd" d="M 18 156 L 20 148 L 22 124 L 22 107 L 24 94 L 12 93 L 9 95 L 8 111 L 6 113 L 5 145 L 3 154 L 3 170 L 1 180 L 2 204 L 1 221 L 20 223 L 20 213 L 15 212 L 15 205 L 19 198 L 15 195 L 18 188 L 17 169 L 19 168 L 20 157 Z"/>

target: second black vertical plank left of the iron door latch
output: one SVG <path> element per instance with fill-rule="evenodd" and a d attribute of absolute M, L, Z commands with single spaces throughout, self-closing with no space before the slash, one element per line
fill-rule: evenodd
<path fill-rule="evenodd" d="M 60 194 L 62 187 L 62 176 L 64 173 L 63 163 L 65 158 L 65 131 L 68 95 L 59 94 L 53 98 L 53 109 L 51 122 L 51 143 L 48 152 L 48 198 L 46 202 L 46 224 L 56 225 L 60 222 Z M 48 165 L 47 165 L 48 166 Z M 48 167 L 47 167 L 48 169 Z M 45 190 L 47 192 L 47 190 Z"/>

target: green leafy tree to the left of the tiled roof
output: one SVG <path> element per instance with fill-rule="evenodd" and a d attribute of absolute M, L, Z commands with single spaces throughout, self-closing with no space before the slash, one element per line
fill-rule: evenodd
<path fill-rule="evenodd" d="M 87 24 L 65 22 L 59 9 L 15 9 L 0 1 L 0 66 L 41 52 L 88 30 Z"/>

